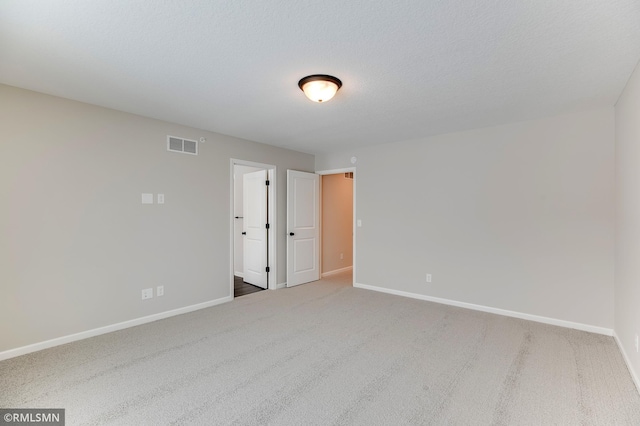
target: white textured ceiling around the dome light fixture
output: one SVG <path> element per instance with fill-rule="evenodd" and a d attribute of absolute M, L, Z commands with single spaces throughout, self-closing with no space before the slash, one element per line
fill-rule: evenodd
<path fill-rule="evenodd" d="M 0 2 L 0 83 L 311 153 L 613 105 L 639 59 L 638 0 Z"/>

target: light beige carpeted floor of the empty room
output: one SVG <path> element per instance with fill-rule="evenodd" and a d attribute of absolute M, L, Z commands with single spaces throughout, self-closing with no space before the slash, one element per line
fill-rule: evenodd
<path fill-rule="evenodd" d="M 0 407 L 67 425 L 639 425 L 612 338 L 350 275 L 0 362 Z"/>

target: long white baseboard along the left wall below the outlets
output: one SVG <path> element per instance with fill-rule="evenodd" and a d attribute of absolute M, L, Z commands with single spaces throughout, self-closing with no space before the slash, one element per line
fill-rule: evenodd
<path fill-rule="evenodd" d="M 160 312 L 158 314 L 148 315 L 142 318 L 123 321 L 117 324 L 111 324 L 104 327 L 94 328 L 92 330 L 81 331 L 80 333 L 70 334 L 68 336 L 57 337 L 51 340 L 45 340 L 44 342 L 34 343 L 31 345 L 22 346 L 15 349 L 9 349 L 7 351 L 0 352 L 0 361 L 9 359 L 9 358 L 14 358 L 20 355 L 26 355 L 31 352 L 41 351 L 43 349 L 52 348 L 54 346 L 64 345 L 65 343 L 71 343 L 77 340 L 87 339 L 89 337 L 111 333 L 112 331 L 118 331 L 118 330 L 122 330 L 129 327 L 135 327 L 136 325 L 146 324 L 146 323 L 161 320 L 164 318 L 169 318 L 175 315 L 186 314 L 188 312 L 197 311 L 199 309 L 209 308 L 211 306 L 220 305 L 221 303 L 230 302 L 232 299 L 233 298 L 231 296 L 227 296 L 221 299 L 198 303 L 196 305 L 185 306 L 184 308 L 178 308 L 178 309 L 173 309 L 171 311 Z"/>

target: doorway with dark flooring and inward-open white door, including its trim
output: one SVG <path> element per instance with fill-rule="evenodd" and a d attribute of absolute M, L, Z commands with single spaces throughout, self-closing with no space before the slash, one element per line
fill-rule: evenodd
<path fill-rule="evenodd" d="M 275 166 L 231 160 L 231 273 L 233 297 L 275 289 Z"/>

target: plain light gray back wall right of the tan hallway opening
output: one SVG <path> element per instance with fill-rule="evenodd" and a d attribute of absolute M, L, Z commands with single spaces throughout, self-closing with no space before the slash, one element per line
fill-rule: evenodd
<path fill-rule="evenodd" d="M 613 108 L 352 155 L 359 283 L 613 328 Z"/>

